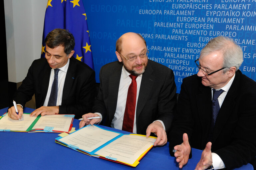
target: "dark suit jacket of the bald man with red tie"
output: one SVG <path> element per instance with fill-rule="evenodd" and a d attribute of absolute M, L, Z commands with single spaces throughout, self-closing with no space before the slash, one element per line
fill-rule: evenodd
<path fill-rule="evenodd" d="M 104 65 L 100 71 L 99 94 L 96 97 L 93 112 L 102 114 L 105 126 L 111 126 L 116 112 L 122 67 L 122 63 L 115 61 Z M 148 60 L 147 68 L 142 75 L 137 101 L 138 134 L 145 134 L 148 125 L 155 120 L 163 121 L 166 131 L 170 128 L 173 108 L 176 105 L 175 93 L 173 71 Z"/>

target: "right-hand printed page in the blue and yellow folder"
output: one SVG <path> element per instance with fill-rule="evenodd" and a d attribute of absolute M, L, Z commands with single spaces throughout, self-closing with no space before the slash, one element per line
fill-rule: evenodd
<path fill-rule="evenodd" d="M 155 138 L 142 135 L 123 135 L 111 142 L 96 154 L 116 158 L 118 161 L 133 164 L 139 156 L 154 144 Z"/>

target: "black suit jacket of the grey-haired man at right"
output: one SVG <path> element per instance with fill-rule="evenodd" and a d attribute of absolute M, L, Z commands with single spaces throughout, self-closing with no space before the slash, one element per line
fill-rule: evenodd
<path fill-rule="evenodd" d="M 191 147 L 204 149 L 210 124 L 211 88 L 203 86 L 197 75 L 184 78 L 169 134 L 170 154 L 182 143 L 183 133 L 188 134 Z M 238 70 L 219 110 L 211 151 L 220 156 L 226 169 L 247 164 L 255 159 L 255 134 L 256 82 Z"/>

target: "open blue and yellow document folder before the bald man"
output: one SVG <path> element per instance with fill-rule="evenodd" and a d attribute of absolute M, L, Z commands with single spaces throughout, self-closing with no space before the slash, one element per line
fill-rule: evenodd
<path fill-rule="evenodd" d="M 57 137 L 55 142 L 89 156 L 135 167 L 155 140 L 152 136 L 146 138 L 145 135 L 123 134 L 88 125 L 65 137 Z"/>

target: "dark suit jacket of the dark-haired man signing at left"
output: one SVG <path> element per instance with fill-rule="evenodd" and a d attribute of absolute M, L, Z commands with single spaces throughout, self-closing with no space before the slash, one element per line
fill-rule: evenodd
<path fill-rule="evenodd" d="M 35 94 L 36 108 L 43 106 L 49 86 L 51 67 L 45 58 L 34 60 L 26 78 L 14 95 L 17 104 L 25 106 Z M 95 72 L 85 63 L 70 58 L 63 88 L 62 104 L 59 114 L 75 114 L 82 118 L 91 112 L 95 97 Z"/>

